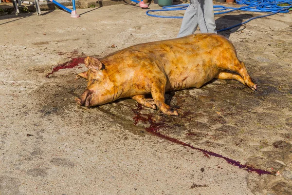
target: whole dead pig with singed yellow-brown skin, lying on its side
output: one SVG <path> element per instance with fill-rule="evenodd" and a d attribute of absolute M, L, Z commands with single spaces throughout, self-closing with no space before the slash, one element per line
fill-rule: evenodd
<path fill-rule="evenodd" d="M 235 79 L 256 90 L 233 44 L 211 33 L 138 44 L 102 59 L 87 57 L 84 63 L 88 71 L 76 79 L 85 78 L 88 85 L 75 101 L 85 106 L 131 97 L 146 107 L 157 106 L 166 115 L 178 116 L 164 103 L 166 91 L 200 88 L 213 78 Z M 146 94 L 153 99 L 146 99 Z"/>

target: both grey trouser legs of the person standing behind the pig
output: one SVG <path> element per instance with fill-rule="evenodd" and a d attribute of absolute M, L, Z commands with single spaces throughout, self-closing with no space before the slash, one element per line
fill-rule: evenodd
<path fill-rule="evenodd" d="M 191 0 L 185 10 L 178 38 L 193 34 L 197 27 L 201 33 L 216 33 L 212 0 Z"/>

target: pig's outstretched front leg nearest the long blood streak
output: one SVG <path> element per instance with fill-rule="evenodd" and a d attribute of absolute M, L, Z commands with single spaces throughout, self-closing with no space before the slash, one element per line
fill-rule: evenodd
<path fill-rule="evenodd" d="M 156 81 L 155 81 L 156 82 Z M 159 85 L 160 84 L 160 85 Z M 156 106 L 165 114 L 168 116 L 179 116 L 178 112 L 171 109 L 170 106 L 165 104 L 164 102 L 164 94 L 165 94 L 165 83 L 162 84 L 162 82 L 156 82 L 153 83 L 151 86 L 151 95 L 152 98 L 156 104 Z"/>

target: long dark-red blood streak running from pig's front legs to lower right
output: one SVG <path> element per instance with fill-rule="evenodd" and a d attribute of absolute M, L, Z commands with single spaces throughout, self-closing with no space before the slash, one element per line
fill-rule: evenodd
<path fill-rule="evenodd" d="M 223 158 L 229 164 L 232 164 L 233 166 L 236 166 L 236 167 L 238 167 L 240 169 L 244 169 L 244 170 L 246 170 L 248 172 L 256 172 L 258 175 L 264 175 L 264 174 L 272 175 L 272 173 L 269 172 L 269 171 L 265 171 L 265 170 L 262 170 L 262 169 L 256 169 L 251 165 L 241 164 L 237 160 L 233 160 L 231 158 L 219 155 L 217 153 L 210 152 L 210 151 L 207 151 L 207 150 L 204 150 L 204 149 L 201 149 L 201 148 L 194 147 L 194 146 L 192 146 L 192 145 L 190 145 L 188 143 L 184 143 L 183 141 L 180 141 L 179 139 L 176 139 L 176 138 L 173 138 L 173 137 L 168 137 L 166 135 L 161 134 L 159 132 L 159 130 L 162 127 L 167 127 L 166 124 L 164 122 L 156 122 L 156 121 L 154 121 L 152 115 L 141 114 L 140 111 L 142 109 L 143 109 L 142 105 L 138 104 L 137 108 L 132 110 L 134 112 L 134 114 L 135 114 L 135 116 L 133 117 L 133 119 L 135 121 L 134 124 L 137 125 L 139 121 L 142 121 L 144 123 L 149 122 L 150 126 L 146 127 L 145 130 L 147 132 L 149 132 L 150 134 L 158 136 L 158 137 L 161 137 L 161 138 L 166 139 L 168 141 L 171 141 L 173 143 L 177 143 L 177 144 L 189 147 L 191 149 L 198 150 L 198 151 L 202 152 L 204 154 L 204 156 L 206 156 L 206 157 L 215 156 L 215 157 Z"/>

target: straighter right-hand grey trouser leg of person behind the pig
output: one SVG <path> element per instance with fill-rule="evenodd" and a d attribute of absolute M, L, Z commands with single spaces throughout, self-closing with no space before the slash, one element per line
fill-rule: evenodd
<path fill-rule="evenodd" d="M 217 33 L 212 0 L 196 0 L 197 14 L 201 33 Z"/>

